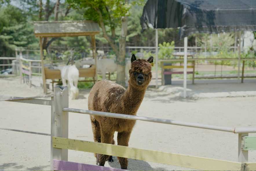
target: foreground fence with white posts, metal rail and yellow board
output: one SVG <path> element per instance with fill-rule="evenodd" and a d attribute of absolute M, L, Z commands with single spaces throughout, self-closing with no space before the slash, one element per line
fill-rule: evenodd
<path fill-rule="evenodd" d="M 38 99 L 41 97 L 51 97 L 51 100 Z M 54 95 L 50 96 L 9 98 L 0 101 L 32 103 L 51 106 L 51 134 L 0 128 L 10 131 L 19 131 L 30 134 L 51 136 L 51 170 L 121 170 L 115 168 L 70 162 L 68 161 L 68 149 L 76 151 L 86 151 L 90 153 L 113 155 L 118 157 L 126 157 L 144 161 L 152 161 L 200 170 L 256 170 L 256 162 L 248 162 L 248 150 L 256 150 L 256 137 L 249 136 L 248 133 L 256 133 L 256 127 L 220 127 L 213 125 L 203 125 L 198 123 L 186 123 L 168 119 L 157 119 L 126 114 L 115 114 L 108 112 L 72 109 L 68 108 L 68 88 L 63 86 L 55 86 Z M 176 153 L 144 150 L 120 145 L 69 139 L 68 112 L 115 117 L 122 119 L 141 120 L 170 125 L 180 125 L 186 127 L 196 127 L 201 129 L 211 129 L 216 131 L 224 131 L 233 134 L 238 134 L 238 161 L 225 161 L 205 157 L 182 155 Z"/>

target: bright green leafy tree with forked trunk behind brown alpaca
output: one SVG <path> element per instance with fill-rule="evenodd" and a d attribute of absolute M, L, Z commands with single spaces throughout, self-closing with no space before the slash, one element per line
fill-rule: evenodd
<path fill-rule="evenodd" d="M 132 5 L 141 1 L 127 0 L 67 0 L 75 9 L 83 9 L 87 20 L 98 22 L 103 37 L 116 54 L 118 64 L 117 83 L 125 85 L 125 43 L 127 37 L 127 22 Z M 121 31 L 119 31 L 121 30 Z M 120 33 L 118 35 L 117 33 Z"/>

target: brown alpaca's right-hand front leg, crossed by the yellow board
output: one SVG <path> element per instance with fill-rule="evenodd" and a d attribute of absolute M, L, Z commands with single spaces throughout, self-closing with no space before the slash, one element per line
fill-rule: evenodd
<path fill-rule="evenodd" d="M 118 132 L 117 134 L 117 144 L 122 146 L 128 146 L 131 132 Z M 127 158 L 117 157 L 121 165 L 121 169 L 127 169 L 128 160 Z"/>

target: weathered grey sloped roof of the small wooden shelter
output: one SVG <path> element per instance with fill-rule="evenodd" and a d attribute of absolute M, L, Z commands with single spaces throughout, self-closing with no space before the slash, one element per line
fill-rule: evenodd
<path fill-rule="evenodd" d="M 98 23 L 90 20 L 81 21 L 36 21 L 36 37 L 87 36 L 100 33 Z"/>

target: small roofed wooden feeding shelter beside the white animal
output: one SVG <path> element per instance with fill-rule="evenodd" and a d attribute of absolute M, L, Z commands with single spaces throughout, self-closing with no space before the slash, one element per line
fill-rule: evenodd
<path fill-rule="evenodd" d="M 100 33 L 98 23 L 83 20 L 83 21 L 36 21 L 34 22 L 34 33 L 36 37 L 40 38 L 40 56 L 42 60 L 42 76 L 43 76 L 43 90 L 46 89 L 46 79 L 60 79 L 61 72 L 57 69 L 48 69 L 44 67 L 43 62 L 43 37 L 63 37 L 63 36 L 91 36 L 92 37 L 92 52 L 95 59 L 95 65 L 90 68 L 81 68 L 79 70 L 79 77 L 94 77 L 97 81 L 97 57 L 96 57 L 96 42 L 95 35 Z"/>

